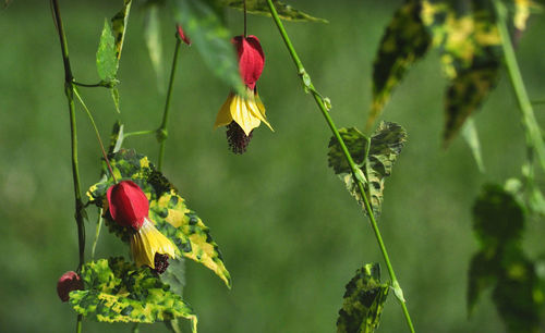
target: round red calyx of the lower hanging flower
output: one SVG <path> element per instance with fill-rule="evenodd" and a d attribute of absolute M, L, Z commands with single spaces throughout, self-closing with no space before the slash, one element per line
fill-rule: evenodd
<path fill-rule="evenodd" d="M 138 185 L 123 181 L 110 186 L 106 194 L 110 215 L 122 226 L 140 230 L 149 211 L 149 201 Z"/>

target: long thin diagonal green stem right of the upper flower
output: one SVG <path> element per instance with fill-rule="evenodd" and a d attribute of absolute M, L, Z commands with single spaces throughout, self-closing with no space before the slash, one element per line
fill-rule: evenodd
<path fill-rule="evenodd" d="M 291 44 L 291 40 L 288 36 L 288 33 L 286 32 L 283 24 L 280 21 L 280 17 L 278 16 L 276 8 L 272 4 L 272 0 L 267 0 L 267 3 L 269 7 L 269 10 L 270 10 L 270 14 L 272 15 L 272 18 L 275 20 L 275 23 L 278 27 L 278 30 L 280 32 L 280 35 L 282 36 L 282 39 L 288 48 L 288 51 L 290 52 L 291 59 L 295 63 L 295 66 L 298 69 L 298 73 L 301 76 L 301 79 L 303 82 L 305 90 L 312 94 L 314 100 L 316 101 L 316 104 L 318 106 L 319 110 L 322 111 L 322 114 L 324 115 L 327 124 L 329 125 L 331 133 L 337 138 L 337 140 L 341 147 L 341 150 L 342 150 L 342 152 L 343 152 L 343 155 L 344 155 L 344 157 L 350 165 L 352 176 L 355 180 L 355 182 L 358 183 L 358 188 L 360 190 L 361 197 L 363 198 L 365 210 L 367 211 L 367 214 L 370 217 L 371 225 L 372 225 L 373 231 L 375 233 L 376 240 L 378 243 L 378 246 L 380 247 L 380 251 L 383 252 L 384 261 L 386 262 L 388 273 L 390 274 L 393 292 L 396 293 L 396 296 L 399 299 L 399 303 L 400 303 L 401 308 L 403 310 L 403 314 L 404 314 L 407 324 L 409 326 L 409 330 L 411 332 L 414 332 L 414 326 L 412 324 L 411 316 L 409 314 L 409 310 L 407 308 L 405 300 L 403 298 L 402 289 L 399 285 L 399 282 L 396 278 L 396 273 L 393 272 L 393 268 L 390 263 L 390 259 L 388 257 L 386 246 L 385 246 L 383 237 L 380 235 L 380 231 L 378 230 L 378 225 L 376 223 L 375 217 L 373 214 L 373 210 L 372 210 L 370 201 L 367 199 L 367 195 L 365 193 L 365 188 L 364 188 L 364 185 L 362 183 L 361 176 L 359 176 L 359 169 L 358 169 L 356 164 L 354 163 L 354 161 L 352 160 L 352 157 L 351 157 L 347 146 L 344 145 L 344 141 L 343 141 L 341 135 L 339 134 L 337 126 L 335 125 L 331 116 L 329 115 L 328 108 L 326 108 L 326 103 L 324 102 L 325 99 L 322 97 L 322 95 L 318 91 L 316 91 L 316 89 L 314 88 L 314 85 L 312 84 L 311 77 L 308 76 L 308 74 L 304 70 L 303 63 L 301 62 L 301 59 L 299 58 L 298 53 L 295 52 L 295 49 L 293 48 L 293 45 Z"/>

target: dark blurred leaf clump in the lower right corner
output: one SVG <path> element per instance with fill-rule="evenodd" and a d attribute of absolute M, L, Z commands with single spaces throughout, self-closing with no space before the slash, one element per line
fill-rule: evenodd
<path fill-rule="evenodd" d="M 512 190 L 512 189 L 510 189 Z M 543 281 L 521 247 L 525 210 L 510 192 L 486 185 L 473 208 L 480 250 L 469 272 L 468 310 L 493 288 L 493 300 L 509 332 L 538 332 Z"/>

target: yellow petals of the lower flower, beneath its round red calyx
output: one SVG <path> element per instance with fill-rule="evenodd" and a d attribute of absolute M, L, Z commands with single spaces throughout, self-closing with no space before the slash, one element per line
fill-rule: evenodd
<path fill-rule="evenodd" d="M 131 236 L 131 251 L 136 266 L 148 266 L 155 269 L 155 254 L 175 258 L 180 255 L 178 247 L 161 234 L 148 219 L 144 219 L 142 227 Z"/>

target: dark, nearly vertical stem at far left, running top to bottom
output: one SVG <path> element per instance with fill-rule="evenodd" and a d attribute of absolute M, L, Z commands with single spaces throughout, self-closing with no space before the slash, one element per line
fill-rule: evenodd
<path fill-rule="evenodd" d="M 74 84 L 73 75 L 70 66 L 69 50 L 66 45 L 66 35 L 64 34 L 64 26 L 62 25 L 61 13 L 59 9 L 59 1 L 51 0 L 53 22 L 59 34 L 61 44 L 62 62 L 64 64 L 64 92 L 68 99 L 69 115 L 70 115 L 70 138 L 72 146 L 72 177 L 74 183 L 74 203 L 75 203 L 75 222 L 77 225 L 77 240 L 78 240 L 78 257 L 80 263 L 77 271 L 81 271 L 85 262 L 85 225 L 83 219 L 84 205 L 82 201 L 82 190 L 80 182 L 80 169 L 77 162 L 77 128 L 75 122 L 75 106 L 74 106 Z M 77 316 L 76 332 L 82 332 L 83 316 Z"/>

